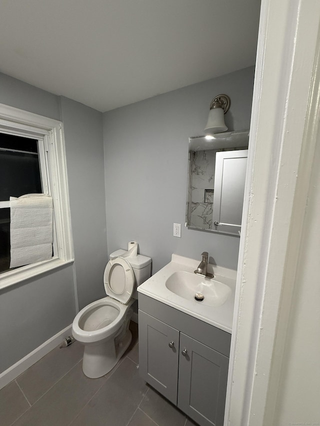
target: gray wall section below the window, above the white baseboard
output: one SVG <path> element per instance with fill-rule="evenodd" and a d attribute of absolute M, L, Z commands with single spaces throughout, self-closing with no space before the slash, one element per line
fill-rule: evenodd
<path fill-rule="evenodd" d="M 72 323 L 72 266 L 0 292 L 0 373 Z"/>

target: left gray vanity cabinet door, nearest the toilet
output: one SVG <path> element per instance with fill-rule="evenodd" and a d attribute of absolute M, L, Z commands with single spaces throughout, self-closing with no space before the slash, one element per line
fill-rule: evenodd
<path fill-rule="evenodd" d="M 179 332 L 142 311 L 139 315 L 139 373 L 176 405 Z"/>

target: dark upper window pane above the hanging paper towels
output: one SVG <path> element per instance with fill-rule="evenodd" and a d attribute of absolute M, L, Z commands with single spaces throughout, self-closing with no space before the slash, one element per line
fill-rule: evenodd
<path fill-rule="evenodd" d="M 37 152 L 36 140 L 0 133 L 0 201 L 42 192 Z"/>

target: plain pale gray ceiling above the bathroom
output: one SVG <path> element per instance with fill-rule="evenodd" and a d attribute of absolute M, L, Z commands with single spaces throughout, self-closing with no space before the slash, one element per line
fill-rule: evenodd
<path fill-rule="evenodd" d="M 255 63 L 259 0 L 0 0 L 0 71 L 99 111 Z"/>

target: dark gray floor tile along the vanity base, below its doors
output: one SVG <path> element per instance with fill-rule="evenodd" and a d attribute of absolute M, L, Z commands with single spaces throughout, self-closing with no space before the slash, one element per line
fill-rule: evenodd
<path fill-rule="evenodd" d="M 186 416 L 151 387 L 139 408 L 159 426 L 184 426 Z"/>

